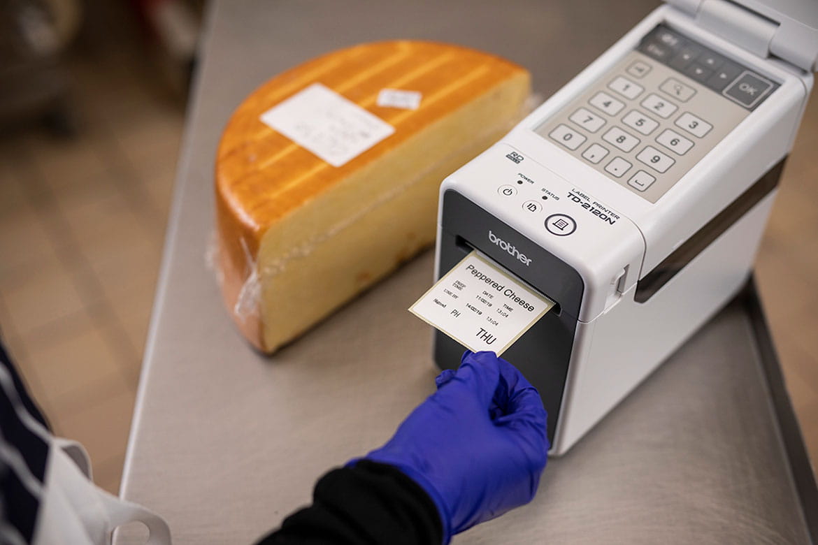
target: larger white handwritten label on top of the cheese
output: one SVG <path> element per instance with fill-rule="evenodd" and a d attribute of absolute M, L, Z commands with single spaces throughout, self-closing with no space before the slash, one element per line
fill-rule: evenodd
<path fill-rule="evenodd" d="M 395 132 L 383 119 L 313 83 L 261 114 L 267 126 L 340 167 Z"/>

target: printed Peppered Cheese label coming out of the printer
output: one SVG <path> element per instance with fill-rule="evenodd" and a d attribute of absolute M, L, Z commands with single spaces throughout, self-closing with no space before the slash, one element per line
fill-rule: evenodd
<path fill-rule="evenodd" d="M 409 310 L 470 351 L 501 355 L 553 306 L 473 251 Z"/>

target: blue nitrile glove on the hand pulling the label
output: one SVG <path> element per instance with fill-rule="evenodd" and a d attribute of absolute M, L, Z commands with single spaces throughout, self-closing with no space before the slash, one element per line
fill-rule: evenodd
<path fill-rule="evenodd" d="M 546 409 L 537 389 L 494 352 L 466 352 L 457 371 L 366 459 L 398 467 L 433 499 L 443 543 L 530 502 L 546 467 Z"/>

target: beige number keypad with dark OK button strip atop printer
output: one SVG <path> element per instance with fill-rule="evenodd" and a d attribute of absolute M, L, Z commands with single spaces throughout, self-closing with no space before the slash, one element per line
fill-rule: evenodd
<path fill-rule="evenodd" d="M 755 74 L 660 25 L 535 132 L 655 203 L 778 87 L 770 83 L 752 108 L 726 95 L 747 73 Z"/>

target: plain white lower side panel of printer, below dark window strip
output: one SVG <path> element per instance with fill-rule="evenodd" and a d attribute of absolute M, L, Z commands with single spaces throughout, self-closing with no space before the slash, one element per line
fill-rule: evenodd
<path fill-rule="evenodd" d="M 774 199 L 775 190 L 647 301 L 631 289 L 578 324 L 552 454 L 570 449 L 742 288 Z"/>

